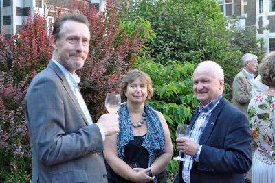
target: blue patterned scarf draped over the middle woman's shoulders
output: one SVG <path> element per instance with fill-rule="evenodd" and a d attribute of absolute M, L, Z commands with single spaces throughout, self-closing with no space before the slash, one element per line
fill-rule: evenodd
<path fill-rule="evenodd" d="M 162 128 L 162 123 L 157 116 L 155 110 L 145 103 L 144 112 L 146 114 L 147 133 L 142 143 L 142 146 L 147 149 L 149 153 L 148 167 L 153 164 L 155 159 L 164 153 L 165 149 L 165 136 Z M 124 158 L 124 145 L 133 140 L 133 130 L 130 121 L 130 114 L 126 103 L 120 106 L 119 125 L 120 132 L 117 138 L 118 157 L 123 160 Z M 157 182 L 155 177 L 154 182 Z"/>

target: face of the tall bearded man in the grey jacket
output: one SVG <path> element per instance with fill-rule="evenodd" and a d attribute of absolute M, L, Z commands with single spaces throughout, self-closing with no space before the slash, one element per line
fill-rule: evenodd
<path fill-rule="evenodd" d="M 87 25 L 76 21 L 65 21 L 59 40 L 52 38 L 54 59 L 74 73 L 83 67 L 89 52 L 90 32 Z"/>

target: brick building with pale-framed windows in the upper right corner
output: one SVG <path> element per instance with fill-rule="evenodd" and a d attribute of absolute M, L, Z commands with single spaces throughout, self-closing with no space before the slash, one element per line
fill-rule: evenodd
<path fill-rule="evenodd" d="M 255 36 L 263 39 L 267 53 L 275 51 L 275 0 L 217 1 L 229 20 L 237 18 L 237 27 L 253 29 Z"/>

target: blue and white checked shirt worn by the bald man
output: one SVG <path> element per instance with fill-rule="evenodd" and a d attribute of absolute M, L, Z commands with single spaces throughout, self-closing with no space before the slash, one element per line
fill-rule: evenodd
<path fill-rule="evenodd" d="M 192 126 L 190 133 L 190 139 L 192 141 L 199 143 L 201 134 L 203 133 L 203 130 L 211 117 L 212 110 L 218 105 L 221 98 L 222 97 L 220 95 L 217 97 L 217 99 L 214 99 L 206 106 L 201 106 L 201 104 L 199 104 L 199 116 L 197 117 L 195 124 Z M 194 163 L 194 158 L 190 155 L 184 155 L 184 167 L 182 169 L 182 175 L 184 182 L 186 183 L 190 182 L 190 171 L 192 169 L 192 164 Z"/>

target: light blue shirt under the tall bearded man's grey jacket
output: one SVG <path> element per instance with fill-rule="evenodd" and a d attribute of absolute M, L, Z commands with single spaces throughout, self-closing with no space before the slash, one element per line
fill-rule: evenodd
<path fill-rule="evenodd" d="M 74 73 L 74 74 L 70 73 L 62 64 L 60 64 L 56 60 L 52 59 L 52 61 L 58 66 L 59 69 L 61 69 L 61 72 L 65 76 L 67 82 L 69 83 L 70 88 L 72 89 L 74 95 L 76 96 L 76 99 L 78 100 L 80 108 L 83 110 L 83 113 L 85 114 L 85 117 L 86 117 L 89 125 L 93 124 L 93 120 L 91 119 L 91 115 L 89 114 L 89 110 L 86 106 L 86 103 L 85 103 L 80 91 L 77 88 L 78 83 L 80 82 L 80 78 L 78 77 L 78 75 L 76 73 Z M 98 124 L 96 123 L 96 125 L 98 125 Z M 105 140 L 104 130 L 102 129 L 102 127 L 100 125 L 98 125 L 98 127 L 100 129 L 102 140 L 104 141 Z"/>

